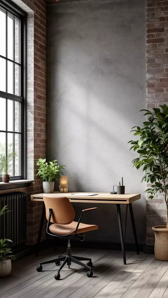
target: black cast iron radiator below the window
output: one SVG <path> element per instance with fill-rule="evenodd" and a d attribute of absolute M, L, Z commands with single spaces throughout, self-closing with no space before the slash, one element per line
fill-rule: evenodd
<path fill-rule="evenodd" d="M 0 209 L 5 205 L 11 210 L 0 216 L 0 239 L 10 239 L 8 247 L 16 247 L 26 242 L 26 194 L 6 193 L 0 195 Z"/>

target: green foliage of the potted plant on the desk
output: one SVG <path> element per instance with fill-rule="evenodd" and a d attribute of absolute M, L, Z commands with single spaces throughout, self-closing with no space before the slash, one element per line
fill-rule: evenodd
<path fill-rule="evenodd" d="M 64 169 L 64 165 L 57 164 L 57 160 L 52 162 L 46 162 L 46 159 L 39 158 L 37 161 L 38 172 L 37 175 L 42 181 L 54 181 L 60 178 L 61 170 Z"/>

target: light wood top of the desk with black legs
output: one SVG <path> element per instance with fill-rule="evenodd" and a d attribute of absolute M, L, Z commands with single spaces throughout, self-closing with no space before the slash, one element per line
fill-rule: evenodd
<path fill-rule="evenodd" d="M 77 194 L 77 192 L 74 192 Z M 110 193 L 96 193 L 94 196 L 73 196 L 74 193 L 49 193 L 45 195 L 57 196 L 57 197 L 67 197 L 70 202 L 80 202 L 80 203 L 105 203 L 105 204 L 129 204 L 140 199 L 140 193 L 128 193 L 125 195 L 111 195 Z M 81 193 L 81 192 L 80 192 Z M 38 193 L 31 195 L 31 201 L 43 201 L 43 193 Z"/>

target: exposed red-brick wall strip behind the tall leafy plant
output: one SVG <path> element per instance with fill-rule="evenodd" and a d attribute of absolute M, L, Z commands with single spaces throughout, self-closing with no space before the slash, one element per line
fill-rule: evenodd
<path fill-rule="evenodd" d="M 147 108 L 168 103 L 168 1 L 147 0 Z M 149 186 L 149 185 L 148 185 Z M 155 241 L 152 226 L 166 224 L 161 194 L 147 199 L 147 244 Z"/>

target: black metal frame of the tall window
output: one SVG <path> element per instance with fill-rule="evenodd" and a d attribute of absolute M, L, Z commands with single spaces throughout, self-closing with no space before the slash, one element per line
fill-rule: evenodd
<path fill-rule="evenodd" d="M 27 119 L 26 119 L 26 70 L 27 70 L 27 61 L 26 61 L 26 27 L 27 27 L 27 13 L 14 4 L 10 0 L 0 0 L 0 7 L 12 15 L 16 16 L 20 20 L 20 96 L 10 94 L 7 92 L 0 91 L 0 97 L 8 98 L 11 100 L 17 100 L 21 103 L 21 118 L 20 118 L 20 131 L 21 131 L 21 148 L 20 148 L 20 162 L 21 162 L 21 176 L 11 176 L 10 180 L 20 180 L 26 179 L 26 135 L 27 135 Z M 7 32 L 6 32 L 7 34 Z M 9 60 L 9 59 L 8 59 Z M 7 144 L 6 144 L 7 146 Z M 2 178 L 0 177 L 0 182 Z"/>

